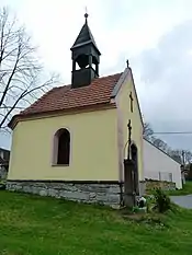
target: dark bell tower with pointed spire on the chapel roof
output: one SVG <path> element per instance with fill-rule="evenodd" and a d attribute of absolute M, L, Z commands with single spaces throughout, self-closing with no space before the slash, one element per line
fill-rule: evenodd
<path fill-rule="evenodd" d="M 84 14 L 84 24 L 70 48 L 72 53 L 72 89 L 89 85 L 94 78 L 99 77 L 101 54 L 88 26 L 88 13 Z"/>

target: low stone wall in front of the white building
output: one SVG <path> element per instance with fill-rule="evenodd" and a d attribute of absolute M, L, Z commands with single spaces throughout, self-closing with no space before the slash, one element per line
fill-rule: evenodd
<path fill-rule="evenodd" d="M 162 190 L 174 190 L 176 183 L 167 181 L 145 179 L 140 182 L 140 194 L 147 194 L 155 188 L 161 188 Z"/>

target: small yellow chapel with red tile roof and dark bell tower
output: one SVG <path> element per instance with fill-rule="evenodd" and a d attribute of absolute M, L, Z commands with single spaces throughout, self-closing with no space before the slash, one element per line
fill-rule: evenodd
<path fill-rule="evenodd" d="M 87 15 L 71 53 L 71 85 L 54 88 L 9 125 L 8 188 L 118 204 L 129 119 L 143 179 L 143 120 L 132 70 L 127 65 L 121 73 L 99 78 L 101 54 Z"/>

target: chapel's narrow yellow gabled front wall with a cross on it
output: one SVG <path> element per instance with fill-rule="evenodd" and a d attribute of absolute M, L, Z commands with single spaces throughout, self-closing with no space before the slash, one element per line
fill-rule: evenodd
<path fill-rule="evenodd" d="M 117 113 L 118 113 L 118 148 L 120 148 L 120 178 L 123 179 L 123 159 L 127 158 L 127 124 L 132 121 L 132 140 L 138 150 L 138 172 L 139 179 L 143 178 L 143 124 L 139 115 L 139 108 L 136 100 L 133 80 L 128 74 L 128 79 L 124 82 L 117 94 Z M 131 112 L 129 93 L 132 91 L 133 113 Z M 122 163 L 121 163 L 122 162 Z"/>

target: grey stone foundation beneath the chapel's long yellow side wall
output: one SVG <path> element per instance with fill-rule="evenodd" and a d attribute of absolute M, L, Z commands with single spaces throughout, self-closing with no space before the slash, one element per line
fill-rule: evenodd
<path fill-rule="evenodd" d="M 116 183 L 70 183 L 70 182 L 35 182 L 8 181 L 7 189 L 24 192 L 41 196 L 65 198 L 67 200 L 94 202 L 118 208 L 121 188 Z"/>

